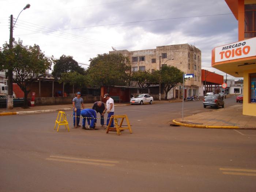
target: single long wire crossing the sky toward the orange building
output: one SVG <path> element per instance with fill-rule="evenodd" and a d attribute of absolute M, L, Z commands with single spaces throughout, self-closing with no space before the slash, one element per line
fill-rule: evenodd
<path fill-rule="evenodd" d="M 111 23 L 111 24 L 103 24 L 103 25 L 94 25 L 94 26 L 86 26 L 86 27 L 76 27 L 71 29 L 60 29 L 60 30 L 53 30 L 53 31 L 67 31 L 67 30 L 74 30 L 74 29 L 85 29 L 91 27 L 102 27 L 102 26 L 112 26 L 112 25 L 121 25 L 121 24 L 128 24 L 128 23 L 143 23 L 143 22 L 151 22 L 151 21 L 161 21 L 161 20 L 174 20 L 174 19 L 185 19 L 185 18 L 196 18 L 196 17 L 208 17 L 208 16 L 220 16 L 220 15 L 231 15 L 233 13 L 228 14 L 215 14 L 215 15 L 198 15 L 198 16 L 187 16 L 187 17 L 176 17 L 176 18 L 167 18 L 167 19 L 151 19 L 151 20 L 142 20 L 142 21 L 132 21 L 132 22 L 123 22 L 123 23 Z M 49 32 L 53 32 L 49 31 Z M 44 32 L 42 32 L 44 33 Z M 21 34 L 21 35 L 32 35 L 35 33 L 30 34 Z"/>

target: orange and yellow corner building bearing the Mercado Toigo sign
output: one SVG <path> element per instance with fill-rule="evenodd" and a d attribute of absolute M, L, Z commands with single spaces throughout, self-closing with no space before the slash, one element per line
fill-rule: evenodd
<path fill-rule="evenodd" d="M 238 20 L 238 41 L 212 50 L 212 67 L 244 78 L 243 114 L 256 116 L 256 0 L 225 0 Z"/>

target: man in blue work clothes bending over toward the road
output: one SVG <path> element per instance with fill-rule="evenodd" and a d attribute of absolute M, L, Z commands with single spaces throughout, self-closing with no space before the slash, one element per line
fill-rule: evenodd
<path fill-rule="evenodd" d="M 83 109 L 81 111 L 81 116 L 83 117 L 83 129 L 86 129 L 85 127 L 85 121 L 87 119 L 87 123 L 89 125 L 89 129 L 95 129 L 96 122 L 97 122 L 97 114 L 96 111 L 93 109 Z M 87 117 L 87 118 L 85 118 Z"/>

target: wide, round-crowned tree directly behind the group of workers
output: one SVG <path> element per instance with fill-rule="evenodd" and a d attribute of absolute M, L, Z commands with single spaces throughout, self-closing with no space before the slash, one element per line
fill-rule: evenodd
<path fill-rule="evenodd" d="M 87 80 L 91 87 L 124 86 L 129 83 L 128 72 L 131 65 L 128 57 L 122 54 L 98 54 L 90 59 L 90 66 L 87 70 Z"/>

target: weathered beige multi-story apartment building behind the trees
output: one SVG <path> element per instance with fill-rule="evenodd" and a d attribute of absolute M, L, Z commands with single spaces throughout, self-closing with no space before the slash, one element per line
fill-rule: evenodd
<path fill-rule="evenodd" d="M 129 57 L 132 71 L 159 70 L 160 65 L 171 65 L 177 67 L 185 74 L 194 74 L 194 78 L 187 79 L 184 84 L 185 97 L 192 95 L 203 95 L 199 93 L 201 86 L 201 51 L 189 44 L 157 46 L 156 49 L 146 50 L 117 50 L 109 53 L 121 53 Z M 182 84 L 182 82 L 181 82 Z M 181 84 L 169 91 L 167 98 L 181 98 Z M 162 95 L 164 98 L 164 94 Z"/>

